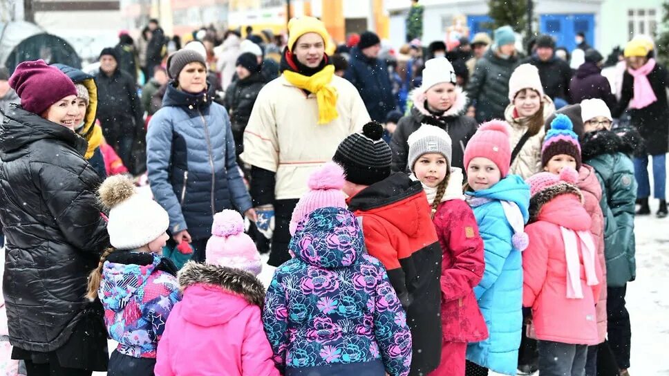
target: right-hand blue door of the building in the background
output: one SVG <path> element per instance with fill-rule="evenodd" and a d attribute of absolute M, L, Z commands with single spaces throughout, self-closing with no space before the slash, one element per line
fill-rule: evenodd
<path fill-rule="evenodd" d="M 556 46 L 572 51 L 576 48 L 576 33 L 583 32 L 585 41 L 594 47 L 594 15 L 540 15 L 539 31 L 552 35 Z"/>

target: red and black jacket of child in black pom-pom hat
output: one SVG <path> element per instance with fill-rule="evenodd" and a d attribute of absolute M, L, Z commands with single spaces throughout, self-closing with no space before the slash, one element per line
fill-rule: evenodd
<path fill-rule="evenodd" d="M 413 341 L 410 375 L 427 375 L 441 360 L 442 251 L 423 187 L 395 173 L 349 198 L 348 209 L 362 223 L 368 253 L 384 264 L 406 310 Z"/>

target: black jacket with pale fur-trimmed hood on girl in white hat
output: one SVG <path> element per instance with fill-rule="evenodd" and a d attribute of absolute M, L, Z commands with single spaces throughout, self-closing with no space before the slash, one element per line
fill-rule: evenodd
<path fill-rule="evenodd" d="M 411 114 L 399 120 L 397 129 L 393 133 L 393 139 L 390 141 L 390 149 L 393 149 L 393 164 L 390 168 L 393 172 L 407 170 L 409 146 L 406 140 L 422 124 L 438 126 L 449 133 L 453 143 L 451 167 L 459 167 L 464 171 L 464 147 L 467 147 L 467 142 L 476 133 L 478 124 L 473 118 L 464 115 L 467 108 L 467 94 L 460 87 L 456 87 L 455 92 L 455 103 L 442 115 L 435 115 L 426 109 L 425 93 L 420 89 L 411 93 L 411 99 L 413 100 Z"/>

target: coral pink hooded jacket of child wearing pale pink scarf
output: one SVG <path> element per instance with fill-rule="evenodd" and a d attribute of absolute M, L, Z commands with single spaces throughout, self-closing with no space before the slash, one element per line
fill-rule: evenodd
<path fill-rule="evenodd" d="M 595 258 L 597 285 L 585 282 L 581 261 L 583 299 L 567 299 L 567 260 L 560 226 L 590 231 L 590 216 L 575 194 L 560 194 L 540 205 L 534 222 L 525 227 L 529 246 L 522 252 L 522 305 L 532 308 L 536 338 L 563 344 L 599 344 L 594 297 L 599 297 L 601 267 Z"/>

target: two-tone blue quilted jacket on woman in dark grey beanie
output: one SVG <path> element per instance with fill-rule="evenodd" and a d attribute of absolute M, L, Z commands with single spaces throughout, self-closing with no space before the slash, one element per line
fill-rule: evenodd
<path fill-rule="evenodd" d="M 204 93 L 172 84 L 147 132 L 147 169 L 153 197 L 169 214 L 169 231 L 211 235 L 214 214 L 252 207 L 235 159 L 227 111 Z"/>

